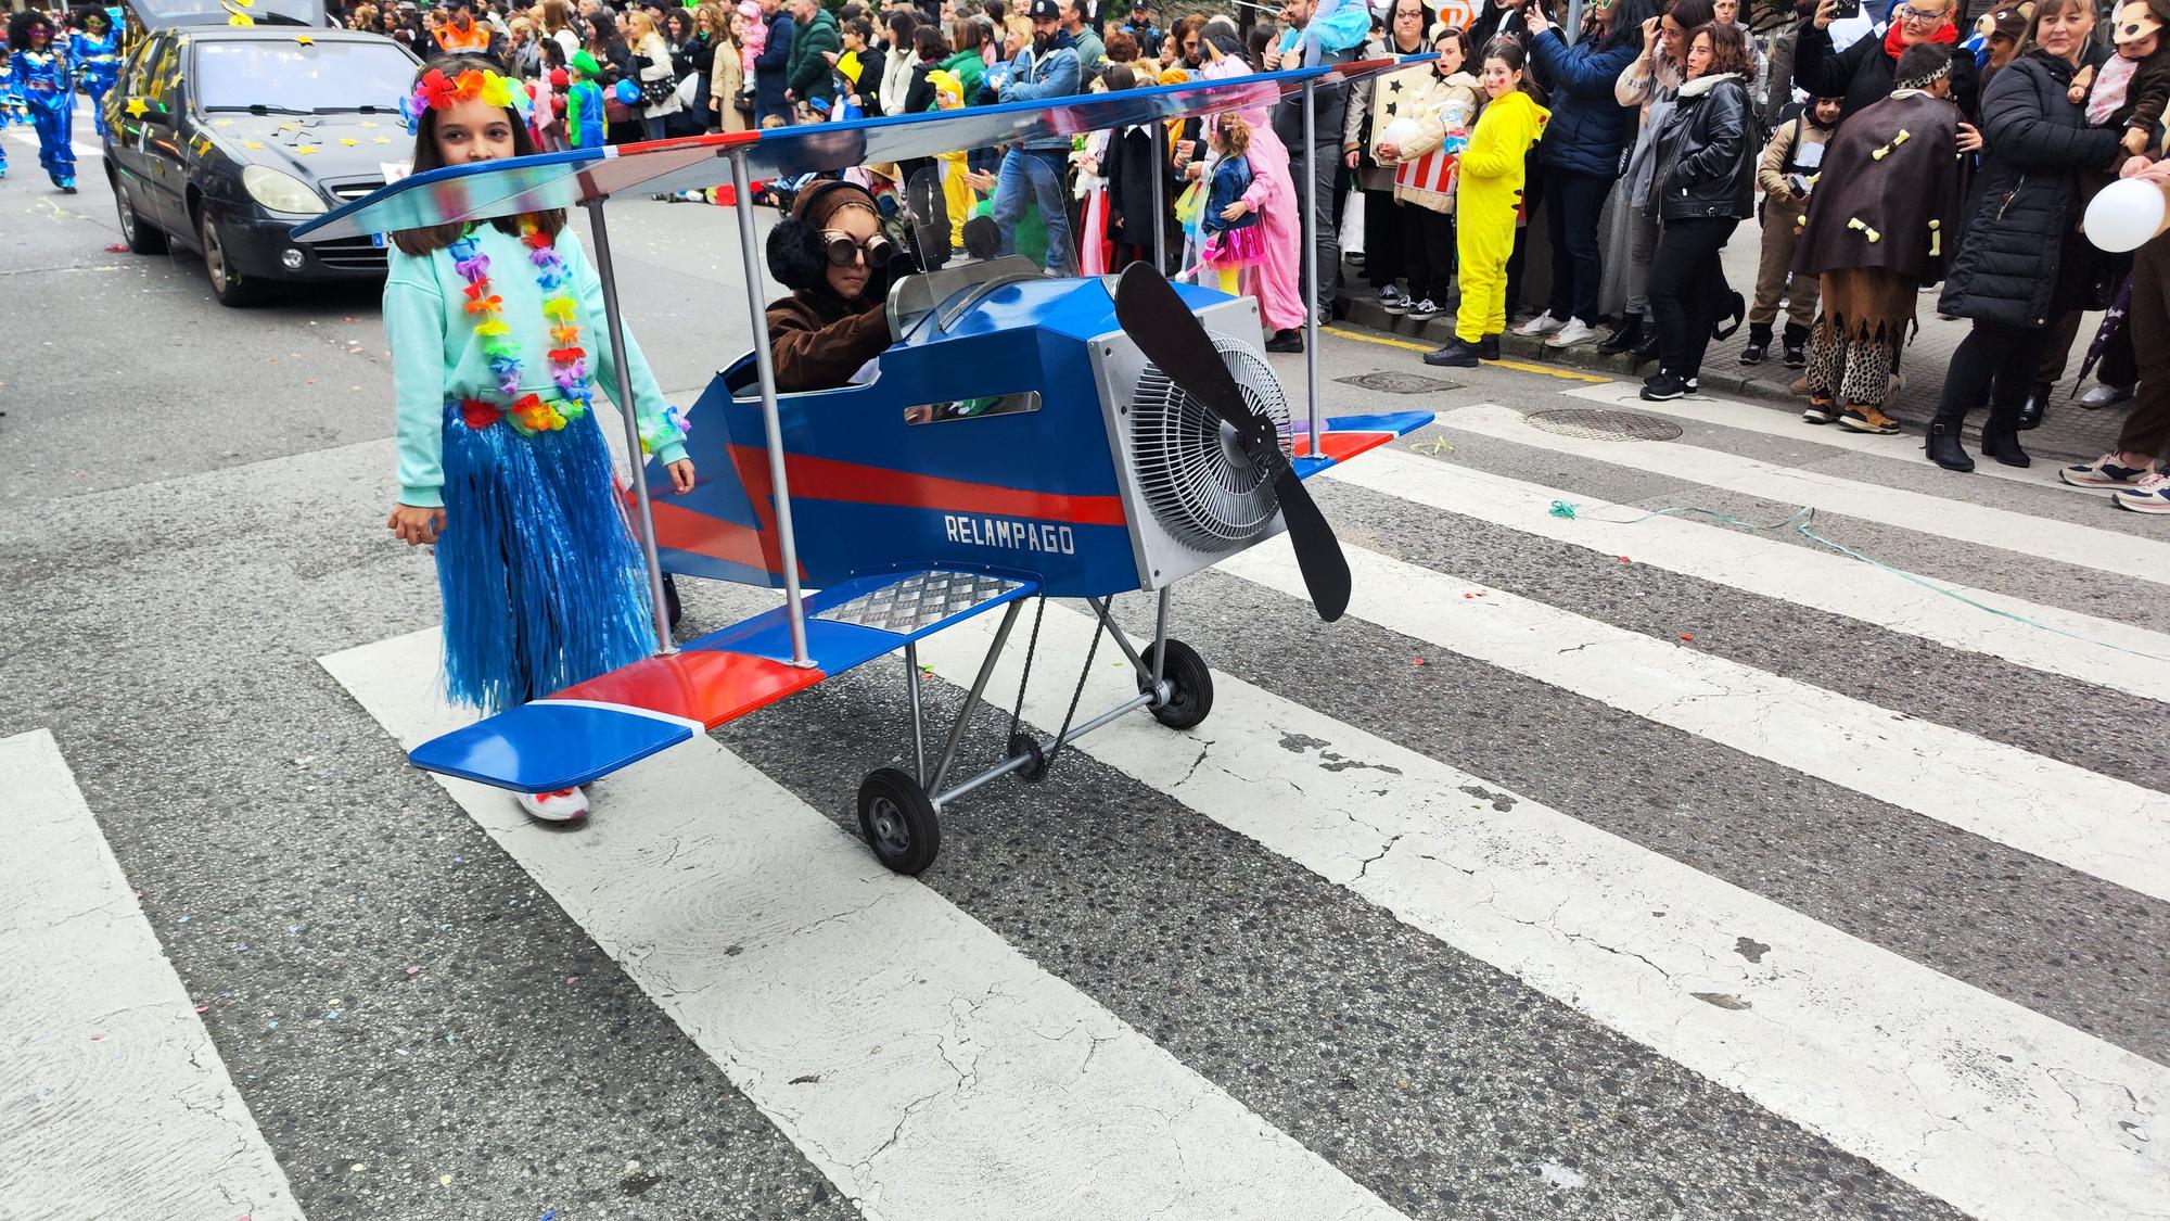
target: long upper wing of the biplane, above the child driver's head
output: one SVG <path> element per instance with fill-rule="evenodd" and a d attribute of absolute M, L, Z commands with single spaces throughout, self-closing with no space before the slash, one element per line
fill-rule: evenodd
<path fill-rule="evenodd" d="M 911 161 L 959 148 L 990 148 L 1018 139 L 1180 119 L 1261 106 L 1278 102 L 1304 85 L 1341 85 L 1428 59 L 1432 56 L 1369 59 L 1115 93 L 1078 93 L 1046 102 L 1000 102 L 963 111 L 655 139 L 614 148 L 538 152 L 475 165 L 445 165 L 401 178 L 382 191 L 297 224 L 293 237 L 295 241 L 332 241 L 569 209 L 621 193 L 664 196 L 718 187 L 731 180 L 727 161 L 731 154 L 744 154 L 749 178 L 786 178 L 851 165 Z"/>

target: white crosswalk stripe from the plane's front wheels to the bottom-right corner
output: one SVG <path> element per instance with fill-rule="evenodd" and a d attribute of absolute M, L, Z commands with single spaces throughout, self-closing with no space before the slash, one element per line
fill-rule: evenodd
<path fill-rule="evenodd" d="M 1078 656 L 1089 634 L 1089 617 L 1050 610 L 1042 643 Z M 990 637 L 966 626 L 920 656 L 970 682 Z M 1011 660 L 994 689 L 1016 676 Z M 1126 671 L 1096 669 L 1085 706 L 1128 687 Z M 1026 710 L 1052 732 L 1065 702 L 1042 684 Z M 1122 721 L 1081 750 L 1968 1212 L 2166 1206 L 2170 1151 L 2120 1128 L 2159 1121 L 2163 1065 L 1489 780 L 1228 676 L 1215 676 L 1213 719 L 1180 745 Z M 1285 800 L 1291 786 L 1300 802 Z M 1740 936 L 1766 945 L 1758 962 L 1736 952 Z M 1968 1121 L 1931 1123 L 1942 1115 Z"/>

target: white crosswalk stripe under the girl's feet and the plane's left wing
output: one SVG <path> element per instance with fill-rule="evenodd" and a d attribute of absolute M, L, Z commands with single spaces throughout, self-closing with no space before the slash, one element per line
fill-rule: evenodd
<path fill-rule="evenodd" d="M 323 665 L 414 745 L 436 656 Z M 1400 1217 L 707 739 L 579 836 L 445 786 L 870 1219 Z"/>

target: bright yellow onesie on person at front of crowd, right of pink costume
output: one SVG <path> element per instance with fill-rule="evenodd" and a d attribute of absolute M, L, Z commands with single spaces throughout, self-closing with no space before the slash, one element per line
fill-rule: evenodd
<path fill-rule="evenodd" d="M 1460 256 L 1463 304 L 1454 337 L 1471 348 L 1506 330 L 1506 261 L 1515 252 L 1523 156 L 1545 135 L 1552 111 L 1521 89 L 1495 98 L 1478 115 L 1454 187 L 1454 252 Z"/>

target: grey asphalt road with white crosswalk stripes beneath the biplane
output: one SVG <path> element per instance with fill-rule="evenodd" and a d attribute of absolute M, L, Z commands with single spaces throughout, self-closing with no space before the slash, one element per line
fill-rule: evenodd
<path fill-rule="evenodd" d="M 1575 441 L 1523 417 L 1632 387 L 1337 332 L 1328 411 L 1443 424 L 1315 482 L 1345 621 L 1278 541 L 1180 587 L 1222 682 L 1191 734 L 996 782 L 892 880 L 846 836 L 909 758 L 872 665 L 551 832 L 401 758 L 436 589 L 382 528 L 375 291 L 221 309 L 193 259 L 108 250 L 95 159 L 63 198 L 0 139 L 0 758 L 126 878 L 35 836 L 0 865 L 0 1217 L 2170 1210 L 2157 519 L 1775 404 Z M 733 215 L 612 217 L 690 402 L 749 343 Z M 1382 372 L 1445 378 L 1348 380 Z M 1769 528 L 1801 506 L 1873 563 Z M 773 595 L 686 602 L 701 632 Z M 195 1012 L 63 1004 L 93 899 Z M 145 1006 L 171 1025 L 130 1060 Z M 122 1169 L 154 1106 L 95 1102 L 124 1069 L 171 1102 L 161 1039 L 245 1110 Z"/>

